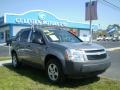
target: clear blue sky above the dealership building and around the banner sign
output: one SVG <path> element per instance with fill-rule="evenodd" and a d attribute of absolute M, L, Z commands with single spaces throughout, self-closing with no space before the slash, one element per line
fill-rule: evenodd
<path fill-rule="evenodd" d="M 0 15 L 4 13 L 24 13 L 29 10 L 45 10 L 61 19 L 74 22 L 85 21 L 85 2 L 89 0 L 0 0 Z M 120 7 L 119 0 L 107 0 Z M 111 8 L 102 0 L 98 1 L 98 20 L 93 24 L 100 24 L 106 28 L 109 24 L 120 24 L 120 10 Z"/>

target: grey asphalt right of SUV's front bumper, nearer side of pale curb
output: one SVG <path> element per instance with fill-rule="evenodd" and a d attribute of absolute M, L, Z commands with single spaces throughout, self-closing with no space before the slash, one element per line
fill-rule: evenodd
<path fill-rule="evenodd" d="M 120 50 L 108 52 L 108 54 L 111 60 L 111 66 L 102 76 L 120 80 Z"/>

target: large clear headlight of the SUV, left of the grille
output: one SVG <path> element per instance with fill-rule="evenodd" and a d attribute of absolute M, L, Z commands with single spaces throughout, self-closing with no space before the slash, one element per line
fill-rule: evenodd
<path fill-rule="evenodd" d="M 74 62 L 84 62 L 84 51 L 75 50 L 75 49 L 67 49 L 65 51 L 65 59 L 72 60 Z"/>

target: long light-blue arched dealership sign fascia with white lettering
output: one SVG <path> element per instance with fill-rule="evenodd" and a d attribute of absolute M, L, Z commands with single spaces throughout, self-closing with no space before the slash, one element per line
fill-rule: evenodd
<path fill-rule="evenodd" d="M 48 25 L 48 26 L 62 26 L 71 28 L 89 29 L 88 24 L 75 23 L 57 18 L 52 13 L 34 10 L 23 14 L 5 13 L 4 23 L 6 24 L 20 24 L 20 25 Z"/>

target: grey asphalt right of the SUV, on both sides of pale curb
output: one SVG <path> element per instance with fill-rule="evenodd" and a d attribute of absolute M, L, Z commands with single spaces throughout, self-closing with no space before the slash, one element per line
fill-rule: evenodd
<path fill-rule="evenodd" d="M 101 44 L 106 49 L 120 47 L 120 41 L 96 41 L 95 43 Z M 111 60 L 111 66 L 102 76 L 120 80 L 120 50 L 108 51 L 108 55 L 109 60 Z"/>

